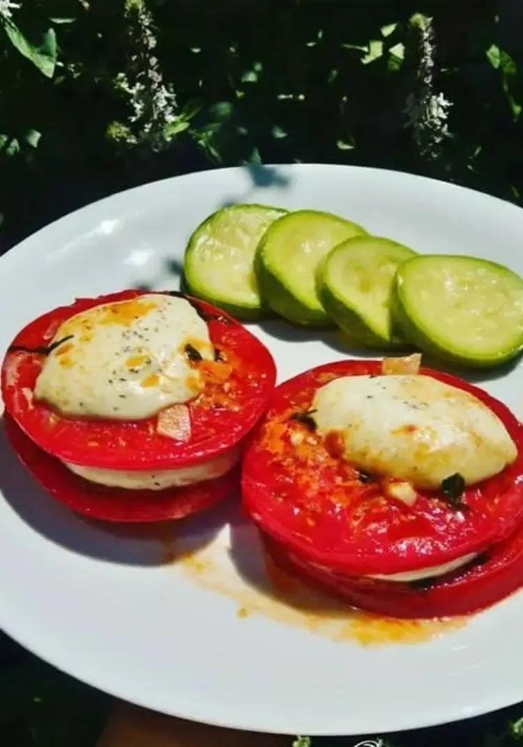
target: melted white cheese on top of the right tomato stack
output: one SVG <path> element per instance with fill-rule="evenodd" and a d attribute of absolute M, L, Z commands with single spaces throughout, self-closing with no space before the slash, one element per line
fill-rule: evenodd
<path fill-rule="evenodd" d="M 318 389 L 312 407 L 318 433 L 338 432 L 348 461 L 418 488 L 457 472 L 478 483 L 517 456 L 492 410 L 430 376 L 344 376 Z"/>

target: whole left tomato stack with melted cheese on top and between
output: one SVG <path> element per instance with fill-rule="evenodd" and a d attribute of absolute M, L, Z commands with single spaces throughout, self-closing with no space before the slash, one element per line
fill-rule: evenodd
<path fill-rule="evenodd" d="M 267 349 L 214 306 L 123 291 L 34 320 L 7 350 L 7 436 L 71 509 L 108 521 L 182 518 L 238 484 L 266 409 Z"/>

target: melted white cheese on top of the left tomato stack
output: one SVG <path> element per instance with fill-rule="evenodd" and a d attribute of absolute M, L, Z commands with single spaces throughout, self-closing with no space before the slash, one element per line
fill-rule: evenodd
<path fill-rule="evenodd" d="M 34 389 L 63 415 L 140 420 L 203 388 L 186 344 L 211 360 L 207 325 L 183 299 L 148 294 L 66 320 Z"/>

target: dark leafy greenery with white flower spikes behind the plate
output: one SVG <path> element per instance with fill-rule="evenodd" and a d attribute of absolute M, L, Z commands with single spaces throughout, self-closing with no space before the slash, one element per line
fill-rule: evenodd
<path fill-rule="evenodd" d="M 114 191 L 324 161 L 521 202 L 520 0 L 0 0 L 0 249 Z"/>

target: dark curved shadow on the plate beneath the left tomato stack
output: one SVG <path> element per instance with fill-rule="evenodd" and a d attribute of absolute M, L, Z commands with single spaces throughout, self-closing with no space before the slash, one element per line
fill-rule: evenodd
<path fill-rule="evenodd" d="M 206 512 L 154 524 L 111 524 L 75 514 L 54 500 L 19 462 L 0 424 L 0 494 L 11 509 L 43 539 L 66 550 L 123 565 L 158 566 L 173 562 L 181 537 L 204 548 L 223 527 L 226 512 Z"/>

